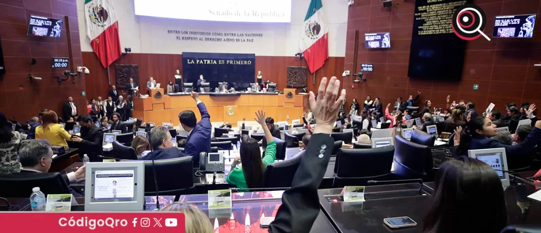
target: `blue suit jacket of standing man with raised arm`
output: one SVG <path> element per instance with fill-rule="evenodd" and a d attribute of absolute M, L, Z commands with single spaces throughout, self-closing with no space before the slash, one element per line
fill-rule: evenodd
<path fill-rule="evenodd" d="M 212 124 L 210 124 L 210 115 L 203 102 L 197 104 L 201 113 L 201 121 L 197 122 L 184 146 L 184 154 L 194 157 L 194 165 L 199 164 L 199 154 L 201 152 L 210 152 L 210 137 Z M 146 157 L 146 156 L 145 156 Z"/>

